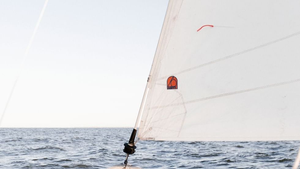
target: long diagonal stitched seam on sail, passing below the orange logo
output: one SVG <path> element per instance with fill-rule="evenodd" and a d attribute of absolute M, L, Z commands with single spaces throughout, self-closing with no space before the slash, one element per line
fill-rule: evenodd
<path fill-rule="evenodd" d="M 189 103 L 193 103 L 193 102 L 200 102 L 200 101 L 213 99 L 213 98 L 219 98 L 219 97 L 224 97 L 224 96 L 229 96 L 229 95 L 234 95 L 234 94 L 240 94 L 240 93 L 245 93 L 245 92 L 254 91 L 254 90 L 261 90 L 261 89 L 275 87 L 275 86 L 281 86 L 281 85 L 285 85 L 285 84 L 289 84 L 289 83 L 296 83 L 299 81 L 300 81 L 300 79 L 294 79 L 294 80 L 285 81 L 285 82 L 281 82 L 281 83 L 275 83 L 275 84 L 270 84 L 270 85 L 266 85 L 266 86 L 260 86 L 260 87 L 245 89 L 245 90 L 238 90 L 238 91 L 234 91 L 234 92 L 230 92 L 230 93 L 209 96 L 209 97 L 205 97 L 205 98 L 199 98 L 199 99 L 190 100 L 190 101 L 183 102 L 183 103 L 168 104 L 168 105 L 163 105 L 163 106 L 154 106 L 154 107 L 150 107 L 149 109 L 158 109 L 158 108 L 164 108 L 164 107 L 178 106 L 178 105 L 182 105 L 182 104 L 189 104 Z"/>

